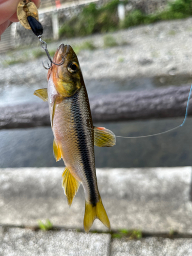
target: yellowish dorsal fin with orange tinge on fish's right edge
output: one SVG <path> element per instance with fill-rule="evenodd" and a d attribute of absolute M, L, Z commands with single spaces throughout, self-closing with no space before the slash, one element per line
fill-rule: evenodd
<path fill-rule="evenodd" d="M 115 134 L 104 128 L 94 127 L 94 144 L 96 146 L 114 146 L 116 143 Z"/>

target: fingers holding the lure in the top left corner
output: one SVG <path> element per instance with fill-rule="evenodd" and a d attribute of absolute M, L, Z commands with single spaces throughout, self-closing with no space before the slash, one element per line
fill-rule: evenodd
<path fill-rule="evenodd" d="M 40 0 L 32 1 L 39 8 Z M 16 11 L 19 2 L 20 0 L 0 0 L 0 38 L 11 23 L 18 22 Z"/>

